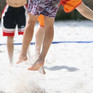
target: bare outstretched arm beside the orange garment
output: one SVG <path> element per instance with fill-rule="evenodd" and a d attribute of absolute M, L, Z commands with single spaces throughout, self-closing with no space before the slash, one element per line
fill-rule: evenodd
<path fill-rule="evenodd" d="M 87 19 L 93 20 L 93 11 L 87 7 L 83 2 L 76 8 L 78 12 Z"/>

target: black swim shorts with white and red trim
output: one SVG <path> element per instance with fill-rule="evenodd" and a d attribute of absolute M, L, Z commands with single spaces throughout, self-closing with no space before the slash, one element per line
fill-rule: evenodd
<path fill-rule="evenodd" d="M 26 6 L 14 8 L 6 5 L 2 13 L 3 36 L 14 36 L 16 26 L 18 35 L 23 35 L 26 26 Z"/>

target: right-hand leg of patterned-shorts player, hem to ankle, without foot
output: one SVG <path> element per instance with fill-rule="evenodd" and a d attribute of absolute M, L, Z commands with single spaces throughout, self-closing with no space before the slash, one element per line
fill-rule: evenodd
<path fill-rule="evenodd" d="M 45 17 L 45 36 L 44 36 L 42 52 L 40 54 L 40 58 L 43 60 L 45 60 L 45 57 L 53 40 L 54 36 L 53 25 L 54 25 L 54 19 Z"/>

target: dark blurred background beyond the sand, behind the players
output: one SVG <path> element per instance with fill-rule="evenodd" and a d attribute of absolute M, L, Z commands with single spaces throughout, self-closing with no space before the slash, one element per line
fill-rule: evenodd
<path fill-rule="evenodd" d="M 93 10 L 93 0 L 83 0 L 83 2 Z M 6 5 L 6 0 L 0 0 L 0 13 L 3 11 Z M 63 7 L 60 6 L 56 16 L 56 20 L 86 20 L 77 10 L 71 13 L 65 13 Z"/>

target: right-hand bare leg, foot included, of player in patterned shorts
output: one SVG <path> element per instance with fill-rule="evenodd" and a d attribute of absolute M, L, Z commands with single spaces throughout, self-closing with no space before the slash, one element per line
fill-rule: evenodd
<path fill-rule="evenodd" d="M 28 70 L 36 71 L 41 66 L 44 65 L 46 54 L 53 40 L 53 34 L 54 34 L 53 24 L 54 24 L 54 18 L 45 16 L 45 36 L 44 36 L 43 48 L 36 62 Z"/>

